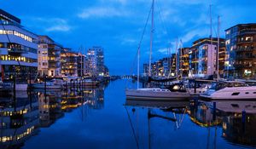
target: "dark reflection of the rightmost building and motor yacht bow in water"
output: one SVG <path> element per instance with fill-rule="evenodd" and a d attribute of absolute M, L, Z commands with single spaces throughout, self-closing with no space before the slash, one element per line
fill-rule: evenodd
<path fill-rule="evenodd" d="M 219 102 L 223 137 L 234 144 L 256 146 L 256 101 Z"/>

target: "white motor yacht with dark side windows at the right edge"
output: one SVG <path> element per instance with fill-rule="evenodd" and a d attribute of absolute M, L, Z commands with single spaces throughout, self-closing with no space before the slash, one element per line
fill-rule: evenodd
<path fill-rule="evenodd" d="M 256 86 L 236 81 L 212 83 L 212 87 L 200 96 L 205 100 L 256 100 Z"/>

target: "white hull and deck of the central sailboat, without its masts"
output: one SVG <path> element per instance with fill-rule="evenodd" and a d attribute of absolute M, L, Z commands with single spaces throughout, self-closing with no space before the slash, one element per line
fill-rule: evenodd
<path fill-rule="evenodd" d="M 134 100 L 189 100 L 190 97 L 183 83 L 172 84 L 165 89 L 126 89 L 125 95 L 126 99 Z"/>

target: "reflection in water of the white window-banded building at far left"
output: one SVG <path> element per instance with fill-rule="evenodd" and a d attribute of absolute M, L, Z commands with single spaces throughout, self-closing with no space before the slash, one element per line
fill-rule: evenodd
<path fill-rule="evenodd" d="M 38 96 L 16 92 L 16 98 L 1 100 L 0 148 L 19 148 L 38 133 Z"/>

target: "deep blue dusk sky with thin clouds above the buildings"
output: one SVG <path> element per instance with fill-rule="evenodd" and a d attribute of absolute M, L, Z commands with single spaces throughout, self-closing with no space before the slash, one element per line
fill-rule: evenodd
<path fill-rule="evenodd" d="M 256 22 L 255 0 L 155 0 L 153 60 L 175 51 L 177 37 L 183 47 L 209 37 L 212 3 L 213 37 L 217 18 L 224 30 L 239 23 Z M 1 9 L 21 19 L 27 29 L 48 35 L 64 47 L 79 51 L 102 46 L 111 74 L 131 74 L 137 45 L 151 6 L 150 0 L 0 0 Z M 149 31 L 142 43 L 142 61 L 148 61 Z M 136 69 L 136 67 L 134 67 Z"/>

